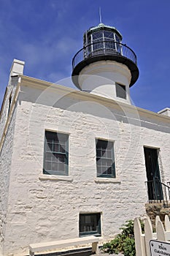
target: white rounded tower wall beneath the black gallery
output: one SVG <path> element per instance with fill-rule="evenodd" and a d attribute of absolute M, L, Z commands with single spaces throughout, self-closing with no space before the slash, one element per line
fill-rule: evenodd
<path fill-rule="evenodd" d="M 82 91 L 89 91 L 107 99 L 131 104 L 129 84 L 131 71 L 125 64 L 117 61 L 95 61 L 82 69 L 78 76 Z M 117 97 L 116 83 L 125 86 L 126 99 Z"/>

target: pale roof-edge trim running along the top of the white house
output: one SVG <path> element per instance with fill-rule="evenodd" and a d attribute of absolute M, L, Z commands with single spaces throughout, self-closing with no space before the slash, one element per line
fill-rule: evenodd
<path fill-rule="evenodd" d="M 74 93 L 74 97 L 76 96 L 79 99 L 83 99 L 83 100 L 87 100 L 87 101 L 93 100 L 95 102 L 101 102 L 102 105 L 103 104 L 108 105 L 108 107 L 110 107 L 110 108 L 125 109 L 126 112 L 130 110 L 131 112 L 134 113 L 134 110 L 136 110 L 136 111 L 138 111 L 139 116 L 149 116 L 150 118 L 152 117 L 152 118 L 155 118 L 155 119 L 158 119 L 158 120 L 163 119 L 163 121 L 166 121 L 166 122 L 170 123 L 170 117 L 169 116 L 160 115 L 159 113 L 155 113 L 155 112 L 152 112 L 150 110 L 145 110 L 145 109 L 136 107 L 134 105 L 128 105 L 128 104 L 125 104 L 125 103 L 122 103 L 122 102 L 117 102 L 113 99 L 107 99 L 105 97 L 101 97 L 101 96 L 98 96 L 98 95 L 95 95 L 95 94 L 89 94 L 88 92 L 85 92 L 85 91 L 77 91 L 75 89 L 71 89 L 71 88 L 66 87 L 66 86 L 61 86 L 61 85 L 58 85 L 56 83 L 50 83 L 50 82 L 47 82 L 45 80 L 40 80 L 40 79 L 37 79 L 37 78 L 31 78 L 31 77 L 28 77 L 26 75 L 18 75 L 18 84 L 17 84 L 17 87 L 16 87 L 15 95 L 13 97 L 12 105 L 11 105 L 11 108 L 9 110 L 9 116 L 7 117 L 7 121 L 6 121 L 6 124 L 4 126 L 4 131 L 3 131 L 2 136 L 0 138 L 0 151 L 1 151 L 1 148 L 4 144 L 4 138 L 5 138 L 5 135 L 7 134 L 7 129 L 9 127 L 10 120 L 12 118 L 12 113 L 13 113 L 13 110 L 14 110 L 14 107 L 15 107 L 15 103 L 18 100 L 18 95 L 20 93 L 20 87 L 22 87 L 23 82 L 26 82 L 25 84 L 23 84 L 23 86 L 30 86 L 30 87 L 35 87 L 36 86 L 36 87 L 39 87 L 39 88 L 42 88 L 42 89 L 50 87 L 50 89 L 53 89 L 53 90 L 66 91 L 66 92 L 68 92 L 68 94 L 69 93 Z"/>

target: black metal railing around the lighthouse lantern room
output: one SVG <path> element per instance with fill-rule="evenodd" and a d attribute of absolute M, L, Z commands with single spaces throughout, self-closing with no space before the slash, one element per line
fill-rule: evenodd
<path fill-rule="evenodd" d="M 136 64 L 136 54 L 127 45 L 115 41 L 100 41 L 79 50 L 72 60 L 72 68 L 74 69 L 81 61 L 100 55 L 123 56 Z"/>

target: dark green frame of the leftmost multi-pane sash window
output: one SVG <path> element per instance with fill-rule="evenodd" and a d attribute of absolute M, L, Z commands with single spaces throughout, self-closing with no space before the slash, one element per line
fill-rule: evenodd
<path fill-rule="evenodd" d="M 61 136 L 65 136 L 65 140 L 64 143 L 64 152 L 61 151 L 51 151 L 53 154 L 58 154 L 58 158 L 61 156 L 65 157 L 65 161 L 63 162 L 63 166 L 64 166 L 64 170 L 47 170 L 47 168 L 45 168 L 45 163 L 46 162 L 50 162 L 51 165 L 53 163 L 53 160 L 47 160 L 47 153 L 50 153 L 50 151 L 46 150 L 47 147 L 47 137 L 46 134 L 47 133 L 51 133 L 55 135 L 55 138 L 58 139 L 58 137 Z M 60 140 L 53 140 L 55 141 L 55 143 L 51 143 L 51 144 L 55 144 L 58 145 L 58 148 L 62 148 L 61 143 L 63 143 L 63 141 L 61 143 L 57 143 Z M 57 158 L 57 157 L 56 157 Z M 60 162 L 60 161 L 59 161 Z M 57 163 L 57 162 L 55 162 Z M 64 132 L 54 132 L 54 131 L 50 131 L 50 130 L 45 130 L 45 140 L 44 140 L 44 161 L 43 161 L 43 174 L 45 175 L 54 175 L 54 176 L 69 176 L 69 134 L 64 133 Z"/>

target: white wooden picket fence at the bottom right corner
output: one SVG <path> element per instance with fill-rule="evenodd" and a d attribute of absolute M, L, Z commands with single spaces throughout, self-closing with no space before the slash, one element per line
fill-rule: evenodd
<path fill-rule="evenodd" d="M 170 221 L 168 215 L 165 216 L 165 228 L 160 217 L 155 219 L 155 230 L 153 233 L 150 218 L 144 219 L 144 233 L 142 233 L 139 218 L 134 219 L 134 237 L 136 256 L 150 256 L 150 240 L 166 241 L 170 243 Z"/>

